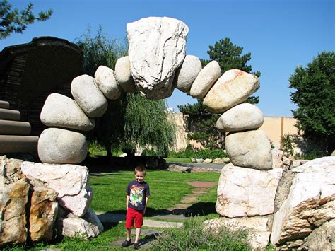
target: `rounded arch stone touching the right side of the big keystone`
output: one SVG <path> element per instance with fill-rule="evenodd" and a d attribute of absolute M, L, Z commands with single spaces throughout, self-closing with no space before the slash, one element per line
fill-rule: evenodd
<path fill-rule="evenodd" d="M 199 57 L 187 55 L 182 62 L 182 66 L 177 70 L 175 83 L 177 89 L 187 93 L 192 86 L 192 83 L 201 71 L 201 61 Z"/>

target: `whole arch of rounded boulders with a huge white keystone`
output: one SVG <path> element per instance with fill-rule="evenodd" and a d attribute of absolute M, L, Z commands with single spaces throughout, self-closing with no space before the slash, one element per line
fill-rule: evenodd
<path fill-rule="evenodd" d="M 173 18 L 143 18 L 127 24 L 129 56 L 118 59 L 115 71 L 100 66 L 94 78 L 74 78 L 74 100 L 52 93 L 47 97 L 40 119 L 48 129 L 40 135 L 38 155 L 43 163 L 76 164 L 86 158 L 86 137 L 80 131 L 95 126 L 95 117 L 107 110 L 107 98 L 116 100 L 121 92 L 136 92 L 148 99 L 172 95 L 174 88 L 204 99 L 214 113 L 222 113 L 216 127 L 230 132 L 226 150 L 234 165 L 269 170 L 271 144 L 259 108 L 243 104 L 259 87 L 259 79 L 232 69 L 221 73 L 218 62 L 201 69 L 198 57 L 186 55 L 189 28 Z"/>

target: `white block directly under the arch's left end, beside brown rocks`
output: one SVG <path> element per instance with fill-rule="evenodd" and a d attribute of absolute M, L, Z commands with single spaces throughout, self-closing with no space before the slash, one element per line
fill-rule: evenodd
<path fill-rule="evenodd" d="M 50 165 L 24 161 L 22 173 L 44 182 L 58 192 L 57 202 L 72 214 L 86 214 L 93 197 L 88 169 L 81 165 Z"/>

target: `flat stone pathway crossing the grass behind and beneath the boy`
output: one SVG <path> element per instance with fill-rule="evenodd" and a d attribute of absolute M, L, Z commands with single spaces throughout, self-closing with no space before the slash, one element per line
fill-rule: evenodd
<path fill-rule="evenodd" d="M 190 194 L 187 194 L 180 204 L 176 204 L 175 206 L 163 211 L 160 214 L 156 214 L 151 216 L 151 219 L 144 219 L 143 226 L 148 228 L 181 228 L 183 226 L 182 222 L 172 222 L 172 221 L 159 221 L 163 220 L 175 220 L 175 221 L 184 221 L 192 214 L 188 208 L 194 204 L 199 195 L 206 194 L 209 187 L 214 187 L 217 185 L 217 182 L 188 182 L 187 184 L 192 185 L 194 187 Z M 108 213 L 96 213 L 101 222 L 119 222 L 125 221 L 126 216 L 124 214 L 108 214 Z M 157 218 L 158 220 L 155 220 Z M 155 229 L 142 229 L 141 230 L 141 238 L 139 240 L 139 245 L 141 249 L 150 249 L 152 243 L 155 241 L 155 237 L 162 233 L 161 230 Z M 135 235 L 134 230 L 131 231 L 131 235 Z M 115 240 L 113 243 L 110 243 L 112 247 L 121 247 L 121 244 L 124 242 L 125 238 L 119 238 Z M 129 248 L 134 248 L 134 237 L 133 243 L 129 246 Z"/>

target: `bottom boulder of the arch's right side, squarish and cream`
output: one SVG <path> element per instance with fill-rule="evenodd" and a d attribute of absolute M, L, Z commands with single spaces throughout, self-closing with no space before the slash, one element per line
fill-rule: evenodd
<path fill-rule="evenodd" d="M 262 130 L 228 134 L 225 149 L 233 165 L 259 170 L 272 168 L 271 144 Z"/>

